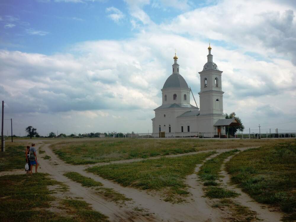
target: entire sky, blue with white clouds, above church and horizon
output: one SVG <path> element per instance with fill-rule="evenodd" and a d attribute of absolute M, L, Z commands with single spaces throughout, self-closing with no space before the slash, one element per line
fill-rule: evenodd
<path fill-rule="evenodd" d="M 210 41 L 224 112 L 254 131 L 281 121 L 270 127 L 296 131 L 295 8 L 289 0 L 1 1 L 6 118 L 21 135 L 29 125 L 42 135 L 151 131 L 175 49 L 199 104 Z"/>

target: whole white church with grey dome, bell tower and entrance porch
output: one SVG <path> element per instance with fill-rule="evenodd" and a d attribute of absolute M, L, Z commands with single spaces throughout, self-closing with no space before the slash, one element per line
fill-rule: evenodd
<path fill-rule="evenodd" d="M 200 108 L 190 104 L 191 89 L 179 73 L 178 57 L 173 57 L 173 74 L 163 85 L 162 105 L 152 119 L 153 136 L 209 136 L 225 134 L 225 127 L 237 125 L 235 119 L 225 119 L 221 74 L 213 62 L 212 48 L 208 47 L 207 63 L 200 74 Z"/>

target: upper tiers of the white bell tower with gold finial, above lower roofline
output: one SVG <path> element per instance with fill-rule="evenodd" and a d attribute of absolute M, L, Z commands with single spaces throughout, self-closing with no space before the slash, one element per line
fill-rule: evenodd
<path fill-rule="evenodd" d="M 223 73 L 213 62 L 211 46 L 207 48 L 207 63 L 200 74 L 200 115 L 223 115 L 223 91 L 221 74 Z"/>

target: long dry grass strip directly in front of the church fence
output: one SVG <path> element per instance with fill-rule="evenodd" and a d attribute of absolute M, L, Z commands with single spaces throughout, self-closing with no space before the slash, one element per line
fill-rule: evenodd
<path fill-rule="evenodd" d="M 217 140 L 217 139 L 69 139 L 53 144 L 53 151 L 70 164 L 92 164 L 147 158 L 160 155 L 188 153 L 209 149 L 235 149 L 263 144 L 280 143 L 283 140 Z"/>

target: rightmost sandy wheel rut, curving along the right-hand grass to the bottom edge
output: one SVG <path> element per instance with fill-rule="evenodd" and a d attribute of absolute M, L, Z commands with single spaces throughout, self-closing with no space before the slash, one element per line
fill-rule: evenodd
<path fill-rule="evenodd" d="M 240 188 L 235 185 L 230 185 L 230 175 L 225 171 L 225 163 L 227 163 L 234 156 L 230 156 L 224 160 L 224 164 L 222 165 L 222 171 L 220 173 L 223 176 L 222 184 L 226 189 L 233 190 L 239 194 L 239 197 L 233 198 L 236 202 L 239 202 L 241 205 L 249 207 L 251 210 L 257 212 L 257 217 L 263 219 L 268 222 L 278 222 L 281 220 L 283 214 L 276 209 L 269 207 L 265 204 L 260 204 L 253 200 L 248 194 L 242 192 Z"/>

